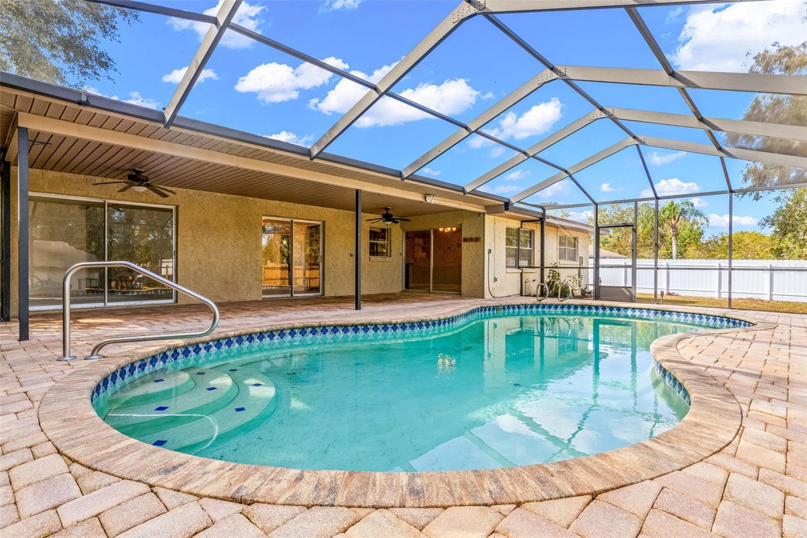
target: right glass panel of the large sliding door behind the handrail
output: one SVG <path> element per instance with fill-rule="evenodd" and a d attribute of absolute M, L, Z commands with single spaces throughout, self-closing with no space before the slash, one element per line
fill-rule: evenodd
<path fill-rule="evenodd" d="M 174 211 L 109 204 L 107 257 L 126 260 L 174 280 Z M 126 268 L 107 270 L 107 302 L 173 301 L 174 290 Z"/>

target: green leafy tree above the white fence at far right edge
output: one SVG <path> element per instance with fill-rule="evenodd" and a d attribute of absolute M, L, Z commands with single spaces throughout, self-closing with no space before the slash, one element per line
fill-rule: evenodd
<path fill-rule="evenodd" d="M 760 224 L 773 229 L 777 258 L 807 259 L 807 187 L 788 189 L 776 195 L 779 207 Z"/>

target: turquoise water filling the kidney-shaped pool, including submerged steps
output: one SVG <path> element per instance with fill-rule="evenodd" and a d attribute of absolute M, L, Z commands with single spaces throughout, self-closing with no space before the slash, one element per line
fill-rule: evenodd
<path fill-rule="evenodd" d="M 95 402 L 126 435 L 295 469 L 491 469 L 586 456 L 687 413 L 650 343 L 699 326 L 498 315 L 433 334 L 297 338 L 203 352 Z"/>

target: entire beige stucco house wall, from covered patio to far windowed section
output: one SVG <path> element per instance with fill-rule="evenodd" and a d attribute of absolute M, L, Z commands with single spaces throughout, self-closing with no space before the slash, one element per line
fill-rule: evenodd
<path fill-rule="evenodd" d="M 12 170 L 12 177 L 16 170 Z M 108 181 L 81 174 L 31 169 L 29 191 L 52 195 L 77 196 L 140 204 L 172 205 L 176 208 L 176 275 L 179 284 L 210 297 L 213 301 L 257 301 L 261 299 L 261 217 L 274 216 L 324 222 L 323 273 L 325 296 L 353 295 L 354 214 L 351 211 L 311 205 L 261 200 L 245 196 L 223 195 L 207 191 L 174 188 L 177 192 L 162 199 L 151 192 L 117 192 L 118 185 L 94 186 Z M 16 198 L 15 182 L 12 200 Z M 505 235 L 508 227 L 518 228 L 520 221 L 504 216 L 466 210 L 412 216 L 412 221 L 384 225 L 391 231 L 391 256 L 370 258 L 370 224 L 362 216 L 362 293 L 400 292 L 403 289 L 403 232 L 416 229 L 462 227 L 462 296 L 500 297 L 533 295 L 540 281 L 538 269 L 506 266 Z M 16 208 L 11 215 L 11 309 L 16 309 Z M 589 233 L 558 229 L 558 221 L 546 225 L 546 265 L 558 262 L 558 234 L 579 237 L 579 256 L 588 259 Z M 563 225 L 561 222 L 560 225 Z M 533 265 L 540 263 L 540 225 L 525 222 L 533 229 Z M 559 263 L 567 267 L 562 278 L 575 274 L 587 276 L 578 263 Z M 180 303 L 193 302 L 178 296 Z"/>

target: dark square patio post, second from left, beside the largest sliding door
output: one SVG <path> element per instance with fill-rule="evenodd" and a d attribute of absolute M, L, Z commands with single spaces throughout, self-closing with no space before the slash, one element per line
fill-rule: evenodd
<path fill-rule="evenodd" d="M 28 339 L 28 128 L 17 128 L 17 305 L 19 341 Z"/>

